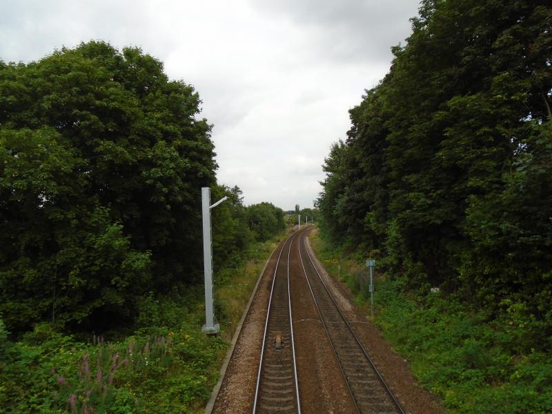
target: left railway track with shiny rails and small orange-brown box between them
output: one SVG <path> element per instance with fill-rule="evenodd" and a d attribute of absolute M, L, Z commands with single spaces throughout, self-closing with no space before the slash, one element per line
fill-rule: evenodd
<path fill-rule="evenodd" d="M 288 237 L 274 271 L 259 371 L 253 402 L 255 413 L 301 413 L 293 344 L 289 291 L 290 251 L 297 232 Z"/>

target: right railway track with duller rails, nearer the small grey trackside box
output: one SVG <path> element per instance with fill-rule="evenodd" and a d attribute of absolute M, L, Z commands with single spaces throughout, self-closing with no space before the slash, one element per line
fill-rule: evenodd
<path fill-rule="evenodd" d="M 306 233 L 299 237 L 304 274 L 357 412 L 404 414 L 320 277 L 306 248 Z"/>

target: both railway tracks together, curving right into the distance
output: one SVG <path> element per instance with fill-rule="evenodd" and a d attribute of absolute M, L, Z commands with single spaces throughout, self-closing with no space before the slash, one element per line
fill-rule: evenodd
<path fill-rule="evenodd" d="M 253 402 L 256 413 L 301 413 L 290 299 L 290 256 L 297 240 L 308 288 L 357 413 L 402 413 L 402 408 L 335 303 L 306 248 L 302 230 L 280 250 L 268 301 Z"/>

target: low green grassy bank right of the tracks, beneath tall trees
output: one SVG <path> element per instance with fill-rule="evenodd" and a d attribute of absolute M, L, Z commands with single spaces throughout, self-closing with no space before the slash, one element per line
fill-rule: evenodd
<path fill-rule="evenodd" d="M 362 258 L 328 244 L 318 233 L 313 247 L 328 271 L 369 307 Z M 338 268 L 339 266 L 339 268 Z M 440 397 L 451 413 L 552 412 L 552 359 L 526 352 L 524 309 L 504 304 L 490 315 L 428 288 L 407 290 L 401 275 L 376 272 L 373 323 L 408 359 L 420 383 Z"/>

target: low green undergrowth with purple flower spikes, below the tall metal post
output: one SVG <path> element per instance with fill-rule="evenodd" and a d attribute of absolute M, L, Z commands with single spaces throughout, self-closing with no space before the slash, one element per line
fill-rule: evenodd
<path fill-rule="evenodd" d="M 216 380 L 221 339 L 184 322 L 92 344 L 39 326 L 13 345 L 0 374 L 0 412 L 199 411 Z M 6 411 L 4 411 L 6 410 Z"/>

